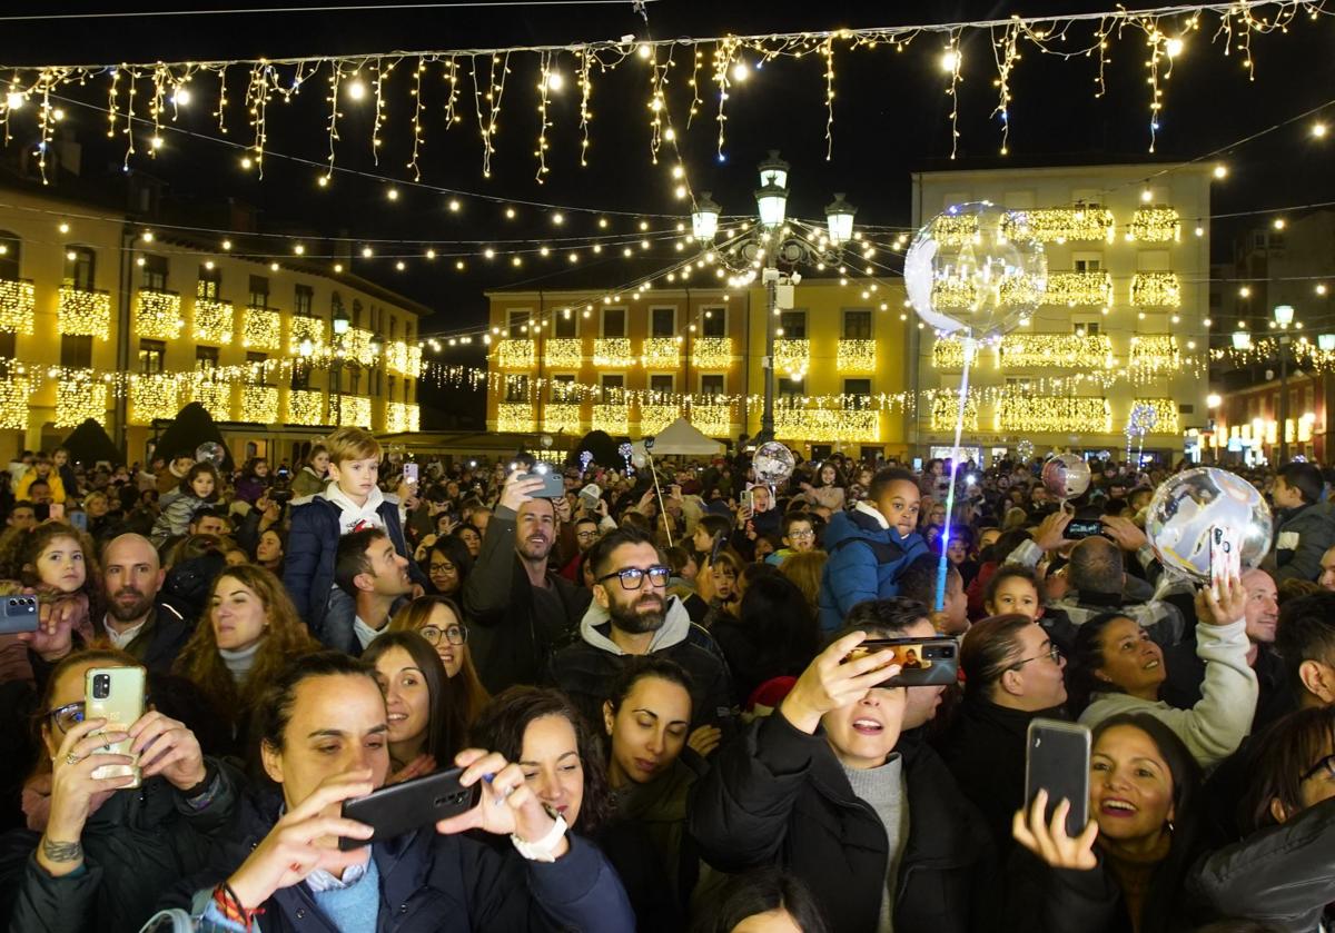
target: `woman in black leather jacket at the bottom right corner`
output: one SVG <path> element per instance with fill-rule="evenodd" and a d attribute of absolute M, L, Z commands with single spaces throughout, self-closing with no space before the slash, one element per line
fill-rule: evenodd
<path fill-rule="evenodd" d="M 1252 782 L 1239 808 L 1246 837 L 1203 860 L 1189 890 L 1220 916 L 1286 930 L 1330 929 L 1335 709 L 1303 709 L 1276 721 L 1247 762 Z"/>

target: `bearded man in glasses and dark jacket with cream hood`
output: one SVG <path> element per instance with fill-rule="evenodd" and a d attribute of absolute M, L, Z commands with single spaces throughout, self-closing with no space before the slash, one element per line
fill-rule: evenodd
<path fill-rule="evenodd" d="M 590 565 L 593 603 L 579 623 L 578 641 L 553 655 L 547 681 L 563 690 L 589 722 L 601 722 L 607 689 L 627 658 L 654 654 L 676 661 L 693 685 L 690 745 L 710 751 L 718 730 L 732 726 L 732 675 L 714 639 L 668 595 L 672 567 L 653 539 L 633 526 L 594 545 Z"/>

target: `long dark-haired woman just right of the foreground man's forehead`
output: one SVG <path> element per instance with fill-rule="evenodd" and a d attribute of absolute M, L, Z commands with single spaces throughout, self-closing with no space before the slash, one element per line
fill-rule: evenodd
<path fill-rule="evenodd" d="M 463 750 L 461 718 L 435 649 L 417 631 L 386 631 L 362 654 L 375 667 L 390 722 L 388 784 L 429 774 Z"/>

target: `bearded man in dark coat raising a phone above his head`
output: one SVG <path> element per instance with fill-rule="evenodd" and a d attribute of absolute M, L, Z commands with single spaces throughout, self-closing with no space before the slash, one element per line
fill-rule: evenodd
<path fill-rule="evenodd" d="M 547 566 L 558 519 L 551 499 L 534 498 L 542 486 L 542 477 L 522 467 L 510 474 L 463 586 L 469 650 L 493 695 L 517 683 L 537 683 L 551 647 L 575 629 L 589 606 L 587 590 Z M 478 518 L 473 517 L 474 525 Z"/>

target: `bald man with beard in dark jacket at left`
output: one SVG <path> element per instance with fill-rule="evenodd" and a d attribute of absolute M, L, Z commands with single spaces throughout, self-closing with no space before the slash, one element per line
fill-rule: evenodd
<path fill-rule="evenodd" d="M 167 571 L 158 550 L 138 534 L 123 534 L 101 553 L 107 615 L 101 630 L 113 647 L 128 651 L 150 671 L 167 674 L 195 630 L 174 606 L 158 599 Z"/>

